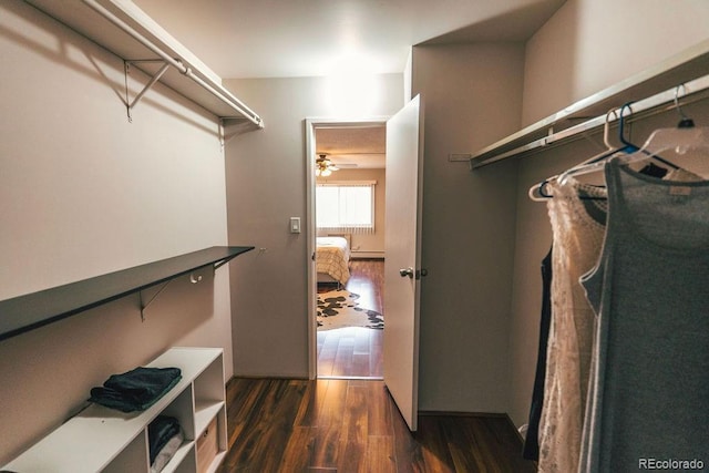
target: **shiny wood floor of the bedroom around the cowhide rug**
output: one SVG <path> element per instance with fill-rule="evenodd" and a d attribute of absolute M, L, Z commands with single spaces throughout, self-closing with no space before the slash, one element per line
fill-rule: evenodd
<path fill-rule="evenodd" d="M 383 313 L 383 259 L 351 260 L 345 288 L 359 295 L 360 307 Z M 331 285 L 318 286 L 318 292 L 333 289 Z M 382 332 L 361 327 L 318 330 L 318 378 L 381 379 Z"/>

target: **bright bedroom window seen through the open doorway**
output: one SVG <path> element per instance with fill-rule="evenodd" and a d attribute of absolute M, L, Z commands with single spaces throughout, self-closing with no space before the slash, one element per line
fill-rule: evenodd
<path fill-rule="evenodd" d="M 338 182 L 316 187 L 318 229 L 374 233 L 376 182 Z"/>

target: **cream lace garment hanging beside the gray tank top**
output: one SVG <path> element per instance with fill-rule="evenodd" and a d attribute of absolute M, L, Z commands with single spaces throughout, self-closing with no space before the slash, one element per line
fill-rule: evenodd
<path fill-rule="evenodd" d="M 552 320 L 540 420 L 542 473 L 578 467 L 595 313 L 578 278 L 594 267 L 605 234 L 606 189 L 573 177 L 552 179 L 547 200 L 552 250 Z M 582 200 L 579 195 L 590 197 Z M 590 210 L 590 212 L 589 212 Z"/>

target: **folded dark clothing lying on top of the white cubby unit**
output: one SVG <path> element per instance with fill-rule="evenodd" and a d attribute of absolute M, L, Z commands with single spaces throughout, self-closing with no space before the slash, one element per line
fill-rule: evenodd
<path fill-rule="evenodd" d="M 143 411 L 153 405 L 182 378 L 179 368 L 138 367 L 112 374 L 103 387 L 91 390 L 92 402 L 123 412 Z"/>

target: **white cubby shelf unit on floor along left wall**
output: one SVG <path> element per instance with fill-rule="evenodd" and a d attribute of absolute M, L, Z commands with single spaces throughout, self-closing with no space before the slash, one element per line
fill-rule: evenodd
<path fill-rule="evenodd" d="M 227 450 L 223 350 L 172 348 L 146 366 L 179 368 L 182 379 L 142 412 L 124 413 L 92 403 L 0 470 L 147 473 L 147 425 L 164 414 L 179 421 L 185 441 L 163 472 L 196 472 L 198 463 L 216 471 Z M 206 434 L 215 419 L 217 453 L 212 461 L 198 459 L 196 439 Z"/>

